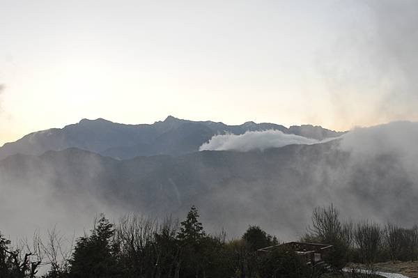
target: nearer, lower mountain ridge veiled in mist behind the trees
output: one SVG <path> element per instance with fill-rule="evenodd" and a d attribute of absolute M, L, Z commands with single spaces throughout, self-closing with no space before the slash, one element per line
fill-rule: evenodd
<path fill-rule="evenodd" d="M 224 227 L 236 235 L 259 224 L 282 239 L 303 233 L 312 208 L 330 203 L 353 218 L 416 222 L 417 180 L 402 166 L 403 157 L 359 158 L 340 144 L 132 160 L 77 148 L 13 155 L 0 162 L 0 217 L 10 226 L 26 218 L 23 226 L 65 222 L 71 231 L 95 213 L 183 217 L 194 204 L 210 231 Z"/>

